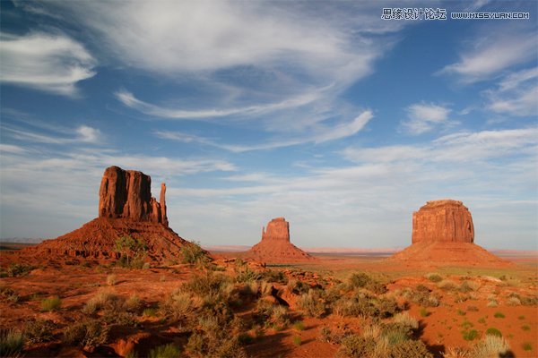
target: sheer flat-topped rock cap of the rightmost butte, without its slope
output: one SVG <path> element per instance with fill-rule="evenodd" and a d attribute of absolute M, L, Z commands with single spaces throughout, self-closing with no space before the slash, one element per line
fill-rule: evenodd
<path fill-rule="evenodd" d="M 412 243 L 473 241 L 473 217 L 462 201 L 431 200 L 412 213 Z"/>

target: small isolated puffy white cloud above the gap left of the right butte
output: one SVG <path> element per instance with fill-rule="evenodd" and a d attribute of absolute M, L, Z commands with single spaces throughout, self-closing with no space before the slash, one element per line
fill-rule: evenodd
<path fill-rule="evenodd" d="M 407 119 L 402 121 L 402 125 L 414 135 L 431 132 L 439 126 L 456 124 L 448 120 L 450 109 L 433 103 L 415 103 L 407 107 L 406 112 Z"/>

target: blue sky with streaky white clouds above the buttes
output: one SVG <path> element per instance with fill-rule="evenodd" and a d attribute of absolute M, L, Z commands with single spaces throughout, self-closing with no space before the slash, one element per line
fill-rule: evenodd
<path fill-rule="evenodd" d="M 166 182 L 170 226 L 207 245 L 283 216 L 299 246 L 403 247 L 451 198 L 476 243 L 538 249 L 534 1 L 0 4 L 2 238 L 96 217 L 116 165 Z"/>

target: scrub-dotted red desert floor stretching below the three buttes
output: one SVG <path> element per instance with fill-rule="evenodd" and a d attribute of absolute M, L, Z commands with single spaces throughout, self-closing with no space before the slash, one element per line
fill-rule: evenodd
<path fill-rule="evenodd" d="M 27 339 L 18 355 L 26 357 L 143 357 L 170 343 L 181 356 L 215 355 L 217 348 L 196 347 L 189 341 L 193 332 L 209 341 L 216 337 L 217 342 L 219 337 L 235 337 L 240 352 L 247 356 L 331 357 L 339 351 L 344 354 L 340 338 L 363 334 L 368 327 L 407 312 L 419 322 L 413 339 L 421 340 L 434 356 L 454 353 L 456 347 L 472 349 L 487 332 L 496 331 L 508 341 L 513 356 L 538 356 L 536 257 L 512 258 L 515 265 L 511 268 L 435 268 L 409 267 L 379 256 L 317 255 L 308 264 L 261 268 L 234 260 L 235 256 L 217 252 L 209 266 L 127 269 L 81 261 L 38 265 L 15 277 L 7 277 L 4 270 L 0 326 L 4 336 L 9 331 L 30 332 L 25 333 Z M 352 286 L 354 273 L 365 274 L 377 286 Z M 202 317 L 204 306 L 215 298 L 204 297 L 202 291 L 196 296 L 195 288 L 185 289 L 193 277 L 226 278 L 219 294 L 225 295 L 235 318 L 230 326 L 221 327 L 230 330 L 224 336 L 211 336 L 196 317 Z M 309 293 L 316 288 L 335 298 Z M 182 291 L 187 295 L 181 295 Z M 306 298 L 301 297 L 308 294 L 325 304 L 321 311 L 307 307 Z M 375 319 L 364 312 L 350 313 L 343 305 L 353 295 L 366 297 L 376 307 L 381 302 L 377 299 L 397 307 L 391 306 Z M 59 303 L 47 306 L 48 299 L 56 297 Z M 174 306 L 178 297 L 187 300 L 184 306 Z M 106 308 L 108 303 L 112 308 Z M 267 308 L 279 305 L 286 309 Z M 99 321 L 108 336 L 98 344 L 66 343 L 66 330 L 85 320 Z"/>

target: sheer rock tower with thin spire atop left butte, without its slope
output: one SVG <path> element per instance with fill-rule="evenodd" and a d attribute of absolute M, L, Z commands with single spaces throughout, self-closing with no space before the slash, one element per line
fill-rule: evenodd
<path fill-rule="evenodd" d="M 152 198 L 152 178 L 118 166 L 105 169 L 99 191 L 99 217 L 150 221 L 168 226 L 166 184 L 161 184 L 161 203 Z"/>

